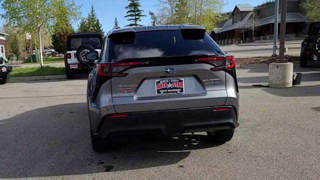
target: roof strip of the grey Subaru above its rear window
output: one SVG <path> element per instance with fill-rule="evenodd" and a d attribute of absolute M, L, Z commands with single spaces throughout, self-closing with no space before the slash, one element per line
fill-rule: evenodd
<path fill-rule="evenodd" d="M 121 32 L 141 32 L 141 31 L 154 31 L 154 30 L 182 30 L 182 29 L 202 29 L 204 27 L 199 25 L 193 25 L 191 23 L 181 24 L 181 25 L 150 25 L 150 26 L 134 26 L 134 27 L 123 27 L 123 28 L 113 28 L 110 30 L 106 36 L 113 33 Z"/>

